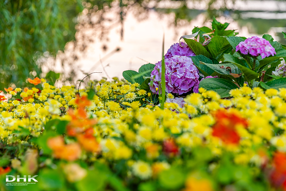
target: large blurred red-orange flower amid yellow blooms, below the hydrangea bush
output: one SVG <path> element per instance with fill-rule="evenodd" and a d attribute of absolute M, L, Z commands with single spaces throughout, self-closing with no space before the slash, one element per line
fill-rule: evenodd
<path fill-rule="evenodd" d="M 237 126 L 246 128 L 248 122 L 235 113 L 218 110 L 214 113 L 216 123 L 213 125 L 213 136 L 219 137 L 226 144 L 238 144 L 240 136 L 236 131 Z"/>

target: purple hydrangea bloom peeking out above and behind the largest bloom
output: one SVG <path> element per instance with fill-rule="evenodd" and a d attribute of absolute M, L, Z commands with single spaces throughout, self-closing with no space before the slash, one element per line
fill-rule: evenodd
<path fill-rule="evenodd" d="M 173 44 L 169 48 L 167 53 L 165 54 L 165 59 L 166 58 L 171 58 L 174 55 L 178 55 L 178 56 L 195 56 L 195 53 L 188 47 L 187 44 L 185 44 L 184 42 L 181 42 L 181 45 L 183 47 L 180 47 L 179 43 Z"/>

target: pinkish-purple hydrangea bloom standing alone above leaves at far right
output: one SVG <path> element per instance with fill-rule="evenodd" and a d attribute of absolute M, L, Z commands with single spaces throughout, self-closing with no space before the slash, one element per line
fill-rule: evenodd
<path fill-rule="evenodd" d="M 236 46 L 236 51 L 240 51 L 242 54 L 250 54 L 252 56 L 261 55 L 262 59 L 270 55 L 276 54 L 275 48 L 273 48 L 270 42 L 266 39 L 253 36 L 245 41 L 240 42 Z"/>

